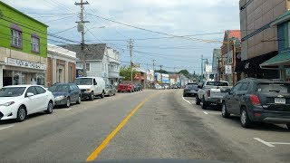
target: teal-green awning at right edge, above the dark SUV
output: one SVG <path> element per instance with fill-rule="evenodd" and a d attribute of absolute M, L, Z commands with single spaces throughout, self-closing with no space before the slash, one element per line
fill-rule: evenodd
<path fill-rule="evenodd" d="M 290 52 L 278 53 L 275 57 L 260 64 L 261 69 L 279 69 L 280 65 L 290 64 Z"/>

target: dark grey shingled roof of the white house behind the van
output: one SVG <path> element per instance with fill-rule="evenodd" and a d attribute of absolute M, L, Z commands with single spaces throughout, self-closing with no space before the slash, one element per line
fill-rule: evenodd
<path fill-rule="evenodd" d="M 76 53 L 76 57 L 82 59 L 83 53 L 86 60 L 102 60 L 106 50 L 106 43 L 86 44 L 82 51 L 81 44 L 63 44 L 60 45 L 65 49 Z"/>

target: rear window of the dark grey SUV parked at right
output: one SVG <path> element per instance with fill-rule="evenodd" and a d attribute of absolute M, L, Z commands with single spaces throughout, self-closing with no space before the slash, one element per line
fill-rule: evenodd
<path fill-rule="evenodd" d="M 258 92 L 271 93 L 290 93 L 290 84 L 287 83 L 259 83 L 257 84 Z"/>

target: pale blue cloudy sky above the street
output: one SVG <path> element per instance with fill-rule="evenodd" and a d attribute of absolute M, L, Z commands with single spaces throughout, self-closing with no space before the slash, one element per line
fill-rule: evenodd
<path fill-rule="evenodd" d="M 8 5 L 49 26 L 48 33 L 81 43 L 76 29 L 80 6 L 74 0 L 4 0 Z M 187 69 L 200 73 L 201 55 L 212 61 L 225 30 L 239 25 L 238 0 L 88 0 L 84 5 L 85 43 L 107 43 L 121 53 L 121 63 L 130 62 L 128 40 L 133 39 L 133 62 L 143 69 L 156 67 L 169 72 Z M 120 22 L 116 24 L 102 18 Z M 140 27 L 140 30 L 126 26 Z M 155 33 L 157 32 L 157 33 Z M 173 37 L 190 35 L 185 37 Z M 165 37 L 165 38 L 164 38 Z M 65 40 L 52 40 L 72 43 Z M 60 44 L 49 41 L 49 43 Z M 157 69 L 157 68 L 156 68 Z M 159 67 L 160 69 L 160 67 Z"/>

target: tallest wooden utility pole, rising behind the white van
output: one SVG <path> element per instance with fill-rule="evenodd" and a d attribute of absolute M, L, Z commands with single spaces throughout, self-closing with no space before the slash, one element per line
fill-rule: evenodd
<path fill-rule="evenodd" d="M 85 23 L 90 23 L 89 21 L 84 21 L 83 20 L 83 5 L 89 5 L 89 3 L 83 2 L 83 0 L 81 0 L 81 3 L 74 3 L 74 5 L 80 5 L 81 6 L 81 14 L 80 14 L 80 22 L 76 22 L 78 24 L 78 31 L 82 33 L 82 71 L 83 71 L 83 76 L 87 76 L 87 72 L 86 72 L 86 67 L 85 67 L 85 54 L 84 54 L 84 24 Z"/>

